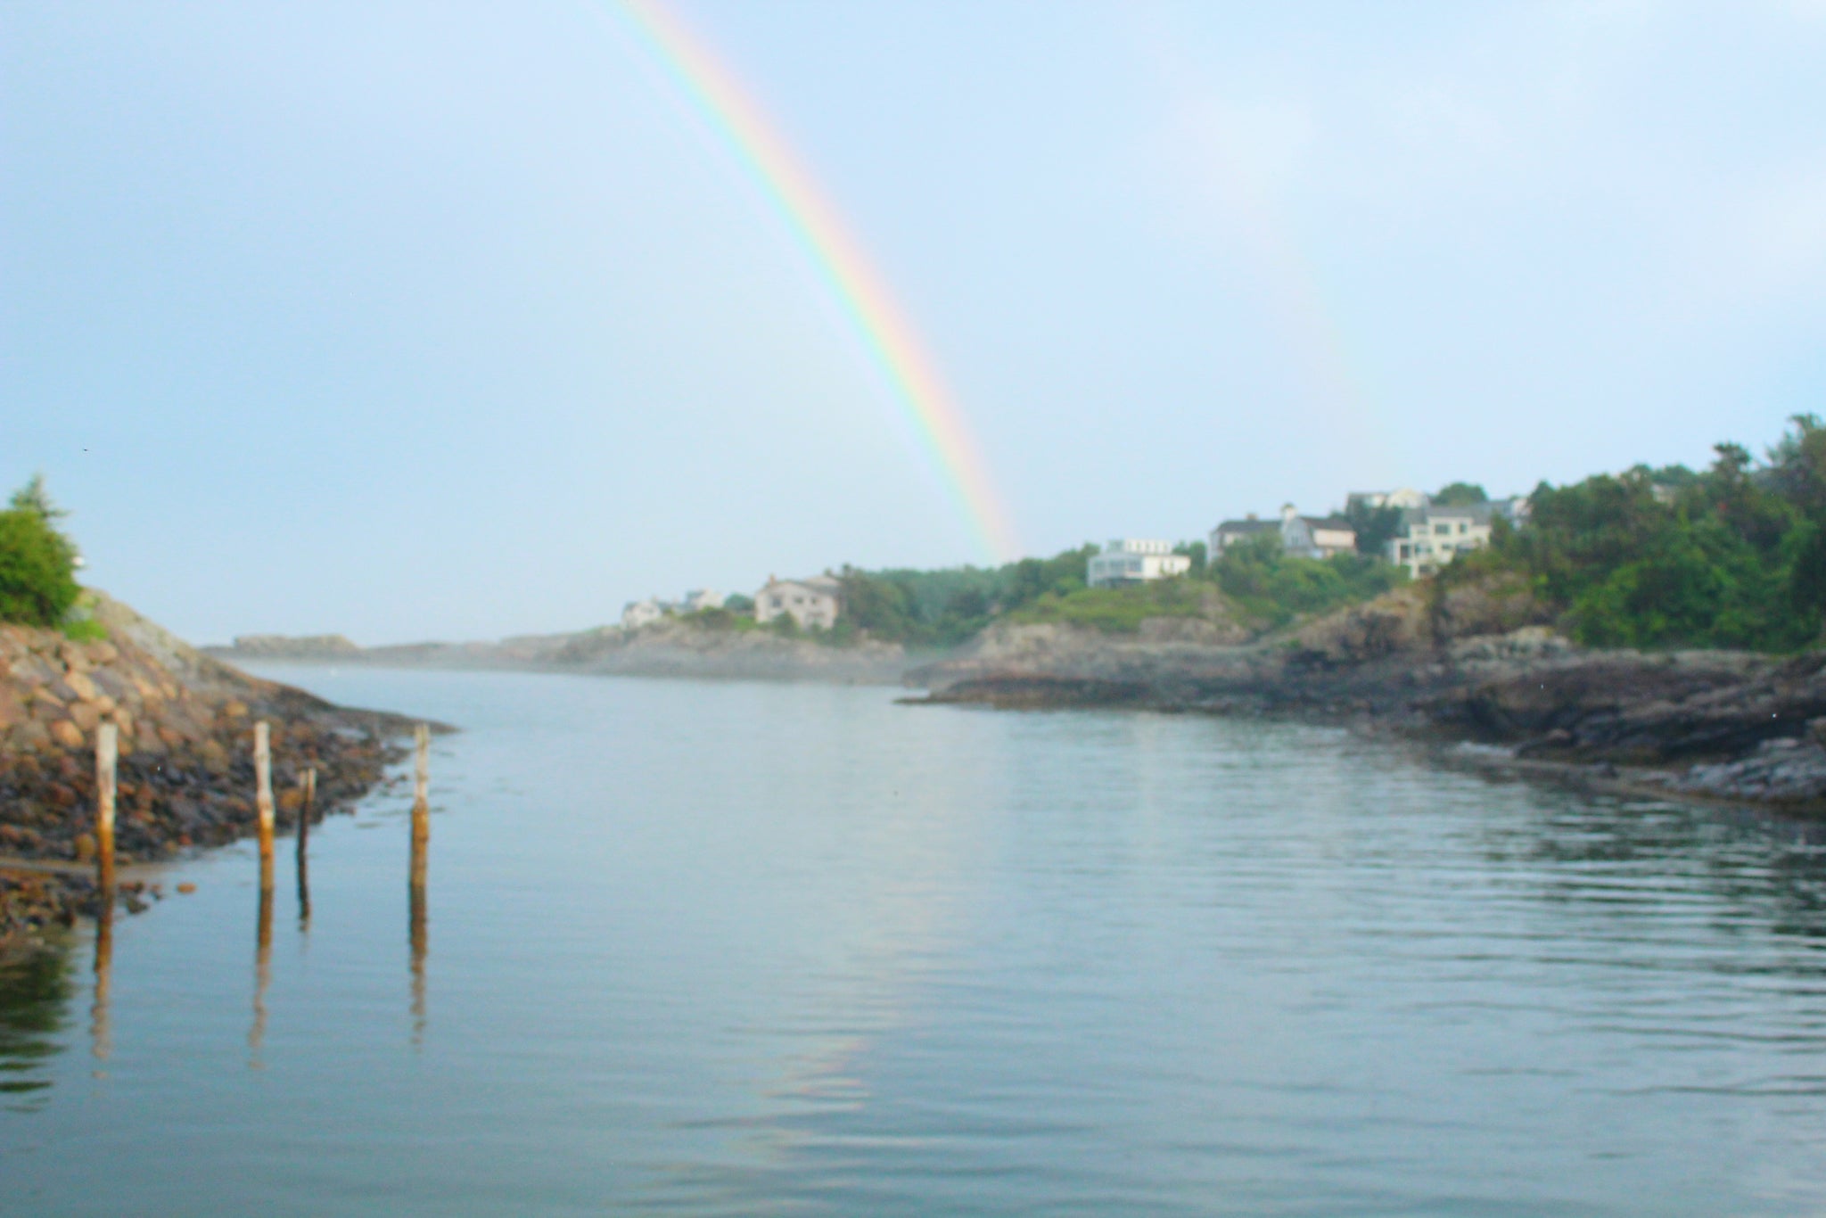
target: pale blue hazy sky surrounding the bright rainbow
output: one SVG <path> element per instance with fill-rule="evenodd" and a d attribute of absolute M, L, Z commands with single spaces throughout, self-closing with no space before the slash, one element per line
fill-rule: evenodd
<path fill-rule="evenodd" d="M 1826 0 L 0 5 L 0 486 L 201 641 L 1704 464 L 1826 409 Z"/>

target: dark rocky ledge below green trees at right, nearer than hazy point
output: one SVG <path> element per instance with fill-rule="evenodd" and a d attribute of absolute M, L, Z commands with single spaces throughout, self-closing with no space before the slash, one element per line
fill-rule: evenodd
<path fill-rule="evenodd" d="M 1548 626 L 1439 628 L 1393 593 L 1251 645 L 1061 626 L 988 632 L 909 674 L 924 703 L 1289 716 L 1475 745 L 1676 798 L 1826 811 L 1826 652 L 1589 650 Z"/>

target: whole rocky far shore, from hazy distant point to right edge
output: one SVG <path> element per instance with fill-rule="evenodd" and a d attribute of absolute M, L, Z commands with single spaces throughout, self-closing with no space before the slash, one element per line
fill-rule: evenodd
<path fill-rule="evenodd" d="M 904 699 L 918 705 L 1278 716 L 1464 745 L 1455 760 L 1481 769 L 1826 811 L 1826 654 L 1581 648 L 1547 626 L 1488 623 L 1441 639 L 1411 590 L 1249 643 L 1181 626 L 999 625 L 929 654 L 681 623 L 380 648 L 268 639 L 208 652 L 234 663 L 911 687 L 928 690 Z"/>

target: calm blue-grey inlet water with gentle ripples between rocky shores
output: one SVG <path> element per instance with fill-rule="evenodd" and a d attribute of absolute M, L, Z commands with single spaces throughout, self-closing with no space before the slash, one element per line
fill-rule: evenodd
<path fill-rule="evenodd" d="M 7 1214 L 1821 1214 L 1826 835 L 1342 732 L 290 670 L 464 725 L 0 977 Z M 265 971 L 265 981 L 261 973 Z"/>

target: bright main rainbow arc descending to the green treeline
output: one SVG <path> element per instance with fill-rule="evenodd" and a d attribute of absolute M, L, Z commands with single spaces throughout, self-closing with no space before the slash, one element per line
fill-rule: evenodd
<path fill-rule="evenodd" d="M 703 38 L 657 0 L 619 0 L 615 9 L 785 223 L 984 557 L 1017 557 L 1008 513 L 957 400 L 778 126 Z"/>

